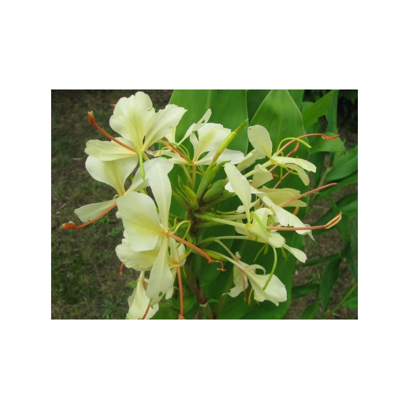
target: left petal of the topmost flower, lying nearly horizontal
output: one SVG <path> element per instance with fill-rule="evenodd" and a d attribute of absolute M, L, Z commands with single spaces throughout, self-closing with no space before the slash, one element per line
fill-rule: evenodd
<path fill-rule="evenodd" d="M 117 141 L 133 148 L 133 142 L 124 138 L 115 138 Z M 94 156 L 100 161 L 115 161 L 117 159 L 123 159 L 125 157 L 138 156 L 136 152 L 133 152 L 122 145 L 113 141 L 99 141 L 97 139 L 90 140 L 86 143 L 85 153 L 89 156 Z"/>

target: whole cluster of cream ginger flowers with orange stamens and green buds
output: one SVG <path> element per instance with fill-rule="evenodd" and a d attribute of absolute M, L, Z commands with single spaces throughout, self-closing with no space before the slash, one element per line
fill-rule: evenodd
<path fill-rule="evenodd" d="M 89 121 L 109 141 L 87 142 L 85 167 L 94 179 L 110 185 L 116 194 L 107 201 L 76 209 L 83 223 L 69 222 L 62 228 L 82 228 L 117 208 L 117 217 L 124 228 L 122 243 L 116 247 L 122 262 L 121 272 L 123 265 L 140 272 L 128 299 L 128 319 L 152 317 L 161 300 L 173 296 L 176 276 L 179 318 L 184 318 L 181 270 L 189 263 L 192 253 L 210 263 L 219 263 L 214 267 L 223 274 L 230 271 L 224 268 L 225 264 L 233 265 L 229 296 L 237 297 L 244 292 L 249 303 L 252 294 L 256 302 L 268 300 L 276 305 L 285 302 L 286 288 L 275 275 L 277 248 L 300 262 L 305 262 L 306 255 L 299 248 L 289 246 L 281 232 L 296 231 L 312 238 L 313 229 L 329 228 L 341 217 L 339 214 L 322 226 L 304 224 L 297 217 L 299 208 L 306 206 L 303 197 L 330 185 L 306 193 L 279 187 L 290 174 L 308 185 L 307 172 L 315 172 L 315 166 L 291 155 L 300 143 L 307 145 L 303 138 L 310 135 L 287 138 L 286 144 L 274 149 L 267 129 L 253 125 L 247 129 L 253 149 L 244 154 L 228 149 L 228 145 L 246 121 L 232 131 L 209 122 L 212 113 L 209 109 L 177 142 L 176 127 L 185 112 L 185 108 L 173 104 L 155 111 L 143 92 L 121 98 L 109 121 L 120 137 L 103 130 L 93 112 L 88 112 Z M 285 153 L 288 147 L 292 150 Z M 175 166 L 180 167 L 185 179 L 170 177 Z M 224 176 L 216 180 L 221 170 Z M 219 211 L 219 203 L 233 196 L 238 197 L 241 205 L 236 208 L 236 203 L 229 212 Z M 183 209 L 184 216 L 170 214 L 172 200 Z M 212 225 L 233 226 L 236 235 L 203 238 L 203 231 Z M 238 252 L 233 254 L 226 245 L 226 240 L 232 239 L 255 241 L 266 250 L 271 248 L 274 255 L 271 272 L 267 274 L 263 266 L 242 261 Z M 220 246 L 220 251 L 210 250 L 211 243 Z M 251 291 L 247 295 L 248 285 Z M 195 293 L 195 289 L 192 291 Z M 200 303 L 198 297 L 197 300 Z"/>

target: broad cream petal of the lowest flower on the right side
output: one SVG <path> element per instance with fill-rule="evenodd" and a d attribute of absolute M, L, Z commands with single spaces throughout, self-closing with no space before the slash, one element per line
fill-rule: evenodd
<path fill-rule="evenodd" d="M 267 285 L 267 288 L 263 290 L 267 280 L 271 276 L 271 273 L 260 275 L 248 269 L 245 270 L 245 273 L 250 280 L 250 284 L 253 287 L 254 299 L 256 301 L 262 302 L 264 300 L 268 300 L 276 305 L 287 301 L 287 290 L 285 288 L 285 285 L 277 276 L 273 275 Z"/>

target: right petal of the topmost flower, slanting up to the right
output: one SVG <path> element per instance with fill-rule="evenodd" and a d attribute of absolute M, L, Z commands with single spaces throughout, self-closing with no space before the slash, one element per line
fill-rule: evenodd
<path fill-rule="evenodd" d="M 166 137 L 177 126 L 185 112 L 185 108 L 174 104 L 166 105 L 165 109 L 158 110 L 147 130 L 143 150 Z"/>

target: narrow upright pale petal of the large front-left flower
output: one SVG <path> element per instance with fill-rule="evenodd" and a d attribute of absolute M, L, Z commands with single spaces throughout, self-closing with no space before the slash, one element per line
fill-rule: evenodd
<path fill-rule="evenodd" d="M 163 229 L 167 232 L 172 187 L 162 161 L 155 162 L 149 167 L 149 186 L 152 189 L 159 214 L 161 215 Z"/>

